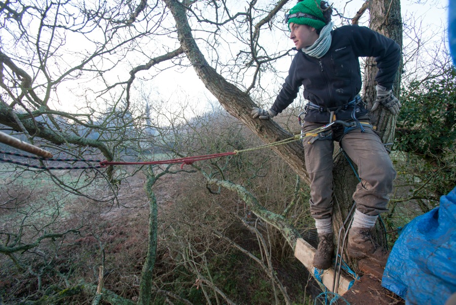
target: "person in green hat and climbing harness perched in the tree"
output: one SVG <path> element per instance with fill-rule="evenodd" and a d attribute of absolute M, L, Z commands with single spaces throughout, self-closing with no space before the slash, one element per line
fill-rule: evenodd
<path fill-rule="evenodd" d="M 401 104 L 392 88 L 400 48 L 367 27 L 347 25 L 332 29 L 331 13 L 327 2 L 318 5 L 316 0 L 299 1 L 290 10 L 286 21 L 297 53 L 274 105 L 269 110 L 254 108 L 252 116 L 275 117 L 292 103 L 303 86 L 304 98 L 309 103 L 304 111 L 302 142 L 311 181 L 310 210 L 319 236 L 313 264 L 327 269 L 332 263 L 332 155 L 333 141 L 337 141 L 358 166 L 361 179 L 353 194 L 356 211 L 349 230 L 348 253 L 385 265 L 388 253 L 373 240 L 372 230 L 378 215 L 388 211 L 388 194 L 392 192 L 396 171 L 359 96 L 359 57 L 375 57 L 378 67 L 377 95 L 371 111 L 383 105 L 397 114 Z M 344 124 L 336 122 L 315 133 L 316 128 L 334 121 Z"/>

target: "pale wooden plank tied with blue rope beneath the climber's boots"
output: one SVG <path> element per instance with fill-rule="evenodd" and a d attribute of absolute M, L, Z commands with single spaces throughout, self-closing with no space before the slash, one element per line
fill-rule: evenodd
<path fill-rule="evenodd" d="M 315 267 L 312 265 L 312 262 L 314 261 L 314 255 L 315 255 L 316 249 L 312 247 L 308 242 L 306 242 L 303 239 L 298 239 L 296 242 L 296 248 L 294 249 L 294 256 L 303 264 L 306 266 L 306 268 L 311 272 L 311 274 L 314 274 L 315 272 Z M 333 281 L 334 281 L 334 268 L 329 268 L 324 270 L 323 274 L 321 275 L 321 279 L 323 282 L 323 285 L 326 286 L 326 288 L 329 291 L 333 291 Z M 340 280 L 339 280 L 339 287 L 337 289 L 337 293 L 339 295 L 343 295 L 349 290 L 349 285 L 350 282 L 353 279 L 350 279 L 348 277 L 345 277 L 344 275 L 340 275 Z"/>

